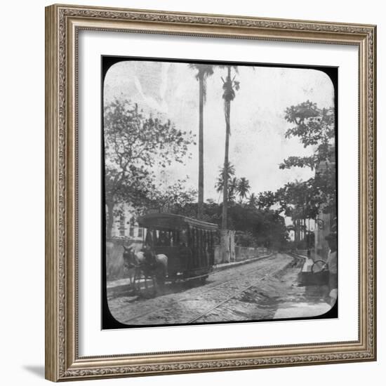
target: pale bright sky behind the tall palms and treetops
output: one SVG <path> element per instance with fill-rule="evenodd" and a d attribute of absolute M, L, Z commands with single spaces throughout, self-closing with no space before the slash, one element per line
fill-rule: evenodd
<path fill-rule="evenodd" d="M 234 70 L 232 70 L 234 75 Z M 137 102 L 145 112 L 163 114 L 182 131 L 199 131 L 199 82 L 185 63 L 124 61 L 109 68 L 105 77 L 105 103 L 114 98 Z M 204 199 L 218 201 L 215 180 L 224 163 L 225 117 L 222 81 L 225 69 L 215 69 L 207 81 L 204 107 Z M 231 105 L 229 161 L 237 177 L 250 181 L 251 192 L 275 191 L 286 182 L 306 180 L 308 168 L 279 169 L 288 156 L 310 154 L 298 139 L 284 138 L 290 127 L 286 107 L 311 100 L 319 108 L 333 106 L 333 84 L 314 69 L 239 66 L 240 90 Z M 166 170 L 168 180 L 189 176 L 188 185 L 198 185 L 198 145 L 191 145 L 192 159 Z"/>

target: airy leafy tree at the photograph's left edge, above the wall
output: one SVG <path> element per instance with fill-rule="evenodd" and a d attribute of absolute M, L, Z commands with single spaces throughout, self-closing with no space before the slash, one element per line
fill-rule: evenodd
<path fill-rule="evenodd" d="M 154 168 L 182 164 L 193 142 L 191 132 L 170 120 L 145 116 L 138 105 L 116 99 L 104 108 L 107 237 L 121 203 L 142 206 L 155 188 Z"/>

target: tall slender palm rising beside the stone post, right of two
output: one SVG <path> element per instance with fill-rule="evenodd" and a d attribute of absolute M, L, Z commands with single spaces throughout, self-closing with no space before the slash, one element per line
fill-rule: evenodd
<path fill-rule="evenodd" d="M 220 68 L 227 68 L 227 77 L 226 79 L 222 79 L 222 89 L 224 90 L 224 93 L 222 93 L 222 99 L 224 99 L 224 113 L 225 113 L 225 157 L 224 157 L 224 165 L 229 164 L 229 135 L 230 135 L 230 102 L 234 100 L 234 97 L 236 96 L 235 90 L 239 90 L 240 84 L 238 81 L 235 81 L 231 78 L 231 68 L 234 67 L 235 71 L 237 72 L 237 66 L 219 66 Z M 221 227 L 222 229 L 227 229 L 228 224 L 228 215 L 227 215 L 227 202 L 228 202 L 228 178 L 227 175 L 225 175 L 225 168 L 224 168 L 224 189 L 223 191 L 223 197 L 222 197 L 222 222 Z"/>

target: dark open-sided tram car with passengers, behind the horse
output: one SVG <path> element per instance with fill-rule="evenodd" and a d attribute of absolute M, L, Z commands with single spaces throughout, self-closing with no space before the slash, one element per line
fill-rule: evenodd
<path fill-rule="evenodd" d="M 214 265 L 218 225 L 182 215 L 151 213 L 138 219 L 144 248 L 167 257 L 167 279 L 205 281 Z"/>

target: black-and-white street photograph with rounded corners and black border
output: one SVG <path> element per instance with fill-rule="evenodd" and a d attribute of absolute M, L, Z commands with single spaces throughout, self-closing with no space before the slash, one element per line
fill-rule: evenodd
<path fill-rule="evenodd" d="M 338 317 L 338 69 L 102 57 L 102 328 Z"/>

